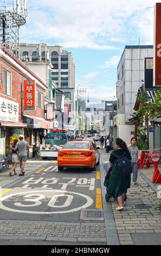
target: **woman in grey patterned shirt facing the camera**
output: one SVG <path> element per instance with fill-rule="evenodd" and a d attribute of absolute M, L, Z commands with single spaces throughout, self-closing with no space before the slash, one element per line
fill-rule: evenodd
<path fill-rule="evenodd" d="M 137 182 L 138 178 L 138 147 L 136 145 L 137 139 L 135 137 L 131 138 L 131 144 L 128 146 L 128 150 L 131 154 L 131 165 L 133 171 L 133 184 L 139 185 Z"/>

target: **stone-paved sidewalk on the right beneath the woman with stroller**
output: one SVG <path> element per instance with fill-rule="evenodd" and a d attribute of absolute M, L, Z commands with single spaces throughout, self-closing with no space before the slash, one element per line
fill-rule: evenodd
<path fill-rule="evenodd" d="M 108 161 L 110 153 L 100 150 L 102 164 Z M 140 173 L 141 174 L 141 173 Z M 144 175 L 138 175 L 139 186 L 133 185 L 127 192 L 124 210 L 117 211 L 117 203 L 111 199 L 115 226 L 120 245 L 161 245 L 161 199 L 157 198 L 154 186 Z"/>

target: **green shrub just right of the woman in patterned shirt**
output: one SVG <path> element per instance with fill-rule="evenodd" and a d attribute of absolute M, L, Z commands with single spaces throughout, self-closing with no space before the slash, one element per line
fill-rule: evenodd
<path fill-rule="evenodd" d="M 147 128 L 139 128 L 137 129 L 138 139 L 137 139 L 137 147 L 139 150 L 146 150 L 147 147 Z"/>

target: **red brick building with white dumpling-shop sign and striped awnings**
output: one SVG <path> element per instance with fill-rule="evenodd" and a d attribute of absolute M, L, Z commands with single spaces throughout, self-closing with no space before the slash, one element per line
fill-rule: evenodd
<path fill-rule="evenodd" d="M 24 110 L 24 80 L 35 81 L 35 110 Z M 0 44 L 0 159 L 7 159 L 9 144 L 19 134 L 30 145 L 40 144 L 44 129 L 53 127 L 52 122 L 44 120 L 46 90 L 46 84 Z"/>

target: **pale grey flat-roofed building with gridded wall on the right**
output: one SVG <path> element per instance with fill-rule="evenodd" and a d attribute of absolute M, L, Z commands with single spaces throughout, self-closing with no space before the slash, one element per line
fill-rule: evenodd
<path fill-rule="evenodd" d="M 131 48 L 128 48 L 131 47 Z M 117 88 L 117 100 L 120 101 L 118 114 L 125 114 L 125 122 L 134 112 L 136 95 L 144 80 L 144 58 L 153 57 L 152 46 L 125 46 L 124 52 L 118 64 L 117 76 L 123 81 L 123 86 Z M 122 105 L 123 94 L 123 105 Z"/>

